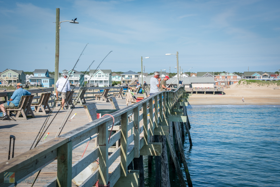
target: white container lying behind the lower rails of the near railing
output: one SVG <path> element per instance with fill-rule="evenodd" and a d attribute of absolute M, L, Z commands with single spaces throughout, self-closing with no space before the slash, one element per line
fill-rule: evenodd
<path fill-rule="evenodd" d="M 96 170 L 98 170 L 98 164 L 95 161 L 87 166 L 83 171 L 81 171 L 81 173 L 79 173 L 74 179 L 72 179 L 72 182 L 76 186 L 80 186 Z"/>

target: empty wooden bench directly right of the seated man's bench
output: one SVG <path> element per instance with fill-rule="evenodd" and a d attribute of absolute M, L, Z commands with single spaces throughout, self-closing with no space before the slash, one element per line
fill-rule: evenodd
<path fill-rule="evenodd" d="M 51 112 L 51 109 L 49 107 L 49 97 L 51 96 L 52 93 L 42 93 L 40 96 L 40 99 L 36 103 L 31 103 L 31 106 L 34 106 L 35 111 L 34 114 L 47 114 L 46 113 L 46 107 L 48 107 L 48 113 Z M 42 111 L 40 111 L 40 109 Z"/>

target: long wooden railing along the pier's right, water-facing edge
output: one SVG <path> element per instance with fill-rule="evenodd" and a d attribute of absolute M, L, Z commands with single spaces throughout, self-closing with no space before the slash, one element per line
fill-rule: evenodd
<path fill-rule="evenodd" d="M 110 116 L 104 116 L 58 136 L 57 138 L 49 140 L 48 142 L 22 153 L 9 161 L 5 161 L 0 164 L 0 173 L 15 172 L 16 183 L 2 183 L 4 175 L 0 175 L 1 186 L 15 186 L 56 159 L 57 177 L 45 186 L 56 187 L 59 186 L 57 185 L 58 182 L 62 187 L 71 186 L 71 180 L 93 161 L 99 158 L 99 170 L 96 170 L 89 178 L 87 178 L 80 187 L 93 186 L 97 180 L 99 180 L 99 184 L 101 185 L 106 185 L 108 184 L 108 181 L 110 181 L 110 186 L 112 187 L 120 177 L 127 176 L 127 166 L 129 163 L 133 158 L 139 157 L 140 150 L 143 146 L 149 144 L 148 137 L 150 135 L 156 135 L 158 131 L 162 129 L 159 124 L 160 121 L 164 121 L 168 115 L 170 115 L 172 107 L 175 106 L 176 101 L 179 101 L 183 95 L 184 89 L 182 87 L 175 91 L 161 91 L 136 104 L 112 113 L 111 115 L 114 117 L 115 123 L 121 121 L 121 129 L 111 136 L 109 143 L 108 128 L 112 125 L 113 119 Z M 148 104 L 149 109 L 147 109 Z M 157 107 L 158 104 L 159 108 Z M 140 108 L 143 110 L 141 115 L 139 114 Z M 128 115 L 131 113 L 134 115 L 134 120 L 128 122 Z M 148 116 L 148 114 L 152 115 Z M 155 120 L 153 118 L 155 118 Z M 140 127 L 141 120 L 143 120 L 143 125 Z M 134 133 L 128 137 L 128 131 L 130 131 L 130 129 L 133 129 Z M 140 139 L 139 135 L 142 132 L 144 135 Z M 76 148 L 77 145 L 86 143 L 96 134 L 99 136 L 99 146 L 93 149 L 85 157 L 72 164 L 72 149 Z M 119 139 L 120 147 L 108 157 L 108 148 Z M 128 150 L 128 145 L 133 141 L 134 146 L 132 149 L 130 147 L 130 150 Z M 120 164 L 117 166 L 114 174 L 109 176 L 108 168 L 119 156 L 121 157 Z"/>

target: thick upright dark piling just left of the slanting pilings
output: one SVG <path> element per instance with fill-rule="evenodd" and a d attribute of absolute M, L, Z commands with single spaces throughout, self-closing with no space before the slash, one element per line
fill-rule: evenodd
<path fill-rule="evenodd" d="M 169 179 L 169 167 L 166 149 L 166 136 L 159 136 L 159 142 L 162 143 L 162 153 L 161 153 L 161 186 L 170 187 Z"/>

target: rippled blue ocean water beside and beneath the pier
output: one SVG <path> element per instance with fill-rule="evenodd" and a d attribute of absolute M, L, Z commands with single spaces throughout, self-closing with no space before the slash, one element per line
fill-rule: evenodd
<path fill-rule="evenodd" d="M 280 106 L 193 105 L 187 112 L 193 146 L 185 135 L 184 153 L 193 186 L 280 186 Z M 144 157 L 145 185 L 155 186 L 154 163 L 152 173 L 147 169 Z"/>

